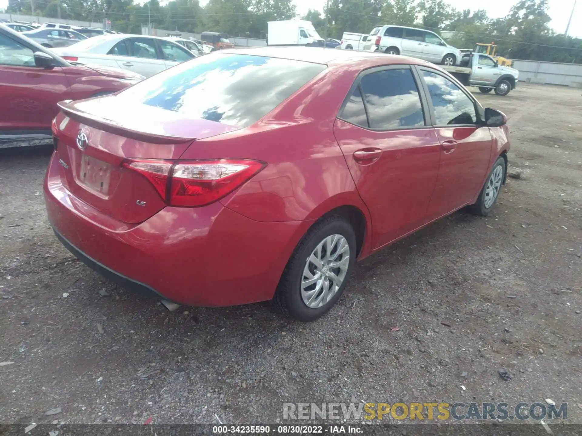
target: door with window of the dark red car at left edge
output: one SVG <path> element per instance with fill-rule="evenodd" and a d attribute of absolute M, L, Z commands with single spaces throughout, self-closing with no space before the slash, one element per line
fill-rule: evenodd
<path fill-rule="evenodd" d="M 0 78 L 1 133 L 49 133 L 56 103 L 73 97 L 62 67 L 37 67 L 33 50 L 5 34 L 0 34 Z"/>

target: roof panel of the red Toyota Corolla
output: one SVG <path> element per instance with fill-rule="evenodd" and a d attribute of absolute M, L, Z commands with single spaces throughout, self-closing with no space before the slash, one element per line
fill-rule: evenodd
<path fill-rule="evenodd" d="M 337 48 L 320 47 L 249 47 L 221 50 L 222 53 L 237 53 L 253 56 L 265 56 L 267 58 L 283 58 L 302 60 L 304 62 L 321 63 L 324 65 L 338 65 L 360 63 L 363 67 L 373 67 L 390 64 L 414 64 L 435 67 L 434 64 L 424 60 L 409 58 L 407 56 L 391 56 L 384 53 L 371 53 L 366 51 L 341 50 Z"/>

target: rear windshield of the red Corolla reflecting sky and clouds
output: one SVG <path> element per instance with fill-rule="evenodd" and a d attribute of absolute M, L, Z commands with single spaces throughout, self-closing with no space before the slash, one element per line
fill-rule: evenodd
<path fill-rule="evenodd" d="M 218 52 L 156 74 L 117 98 L 247 127 L 324 69 L 318 63 Z"/>

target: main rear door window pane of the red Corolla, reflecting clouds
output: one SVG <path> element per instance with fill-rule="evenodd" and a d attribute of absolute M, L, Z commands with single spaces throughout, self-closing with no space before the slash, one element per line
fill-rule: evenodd
<path fill-rule="evenodd" d="M 388 130 L 424 126 L 423 106 L 410 69 L 366 74 L 360 84 L 371 128 Z"/>

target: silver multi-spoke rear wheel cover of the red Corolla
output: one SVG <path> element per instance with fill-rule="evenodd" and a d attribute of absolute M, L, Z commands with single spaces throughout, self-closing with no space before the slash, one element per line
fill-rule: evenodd
<path fill-rule="evenodd" d="M 301 299 L 308 308 L 321 308 L 342 286 L 350 262 L 350 246 L 342 235 L 329 235 L 307 258 L 301 277 Z"/>

